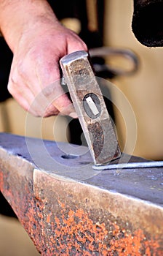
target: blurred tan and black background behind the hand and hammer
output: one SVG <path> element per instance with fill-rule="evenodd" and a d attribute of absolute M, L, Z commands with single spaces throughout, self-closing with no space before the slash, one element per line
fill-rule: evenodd
<path fill-rule="evenodd" d="M 105 64 L 101 72 L 97 69 L 97 75 L 111 81 L 122 91 L 122 94 L 116 94 L 116 90 L 108 86 L 113 102 L 119 102 L 119 110 L 115 105 L 109 105 L 108 111 L 114 118 L 122 150 L 125 148 L 128 154 L 148 159 L 162 159 L 163 49 L 147 48 L 135 38 L 131 26 L 133 2 L 130 0 L 71 1 L 71 4 L 63 2 L 67 6 L 64 10 L 68 13 L 62 11 L 60 15 L 63 4 L 56 1 L 55 4 L 58 6 L 55 10 L 58 10 L 58 18 L 65 26 L 76 31 L 90 49 L 106 46 L 112 50 L 122 50 L 121 54 L 92 56 L 95 69 L 99 64 Z M 53 1 L 49 3 L 54 4 Z M 4 42 L 1 44 L 3 45 Z M 137 61 L 136 68 L 131 56 L 126 57 L 122 54 L 123 50 L 132 50 Z M 4 63 L 7 62 L 9 65 L 12 55 L 8 51 L 5 55 L 3 52 L 3 56 L 2 52 L 0 54 L 0 69 L 5 72 Z M 116 72 L 119 69 L 124 72 Z M 132 69 L 135 72 L 130 72 Z M 7 86 L 7 78 L 5 79 L 3 83 Z M 3 95 L 5 97 L 0 103 L 0 132 L 25 135 L 27 113 L 6 92 Z M 7 97 L 9 99 L 6 99 Z M 65 130 L 68 138 L 65 138 Z M 80 135 L 77 133 L 77 138 L 74 140 L 71 137 L 72 133 L 73 124 L 70 125 L 66 117 L 50 117 L 42 120 L 28 115 L 28 136 L 78 143 Z M 0 205 L 0 207 L 4 206 Z M 0 255 L 38 255 L 20 223 L 3 215 L 0 215 Z"/>

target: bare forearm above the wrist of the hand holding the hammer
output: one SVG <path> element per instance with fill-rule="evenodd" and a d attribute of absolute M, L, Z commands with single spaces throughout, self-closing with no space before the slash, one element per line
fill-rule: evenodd
<path fill-rule="evenodd" d="M 0 30 L 12 51 L 22 34 L 37 29 L 37 24 L 40 27 L 40 21 L 44 26 L 56 20 L 45 0 L 0 0 Z"/>

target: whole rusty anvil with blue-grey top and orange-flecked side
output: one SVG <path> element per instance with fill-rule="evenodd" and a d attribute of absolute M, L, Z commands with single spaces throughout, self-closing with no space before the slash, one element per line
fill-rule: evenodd
<path fill-rule="evenodd" d="M 163 255 L 163 168 L 97 172 L 70 146 L 0 134 L 1 192 L 41 255 Z"/>

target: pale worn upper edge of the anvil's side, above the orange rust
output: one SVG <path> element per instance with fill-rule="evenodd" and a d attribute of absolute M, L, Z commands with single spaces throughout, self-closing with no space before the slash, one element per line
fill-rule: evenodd
<path fill-rule="evenodd" d="M 92 208 L 95 206 L 95 203 L 98 207 L 105 208 L 106 211 L 111 212 L 116 217 L 121 216 L 121 218 L 124 220 L 124 222 L 132 222 L 132 225 L 135 225 L 135 228 L 145 228 L 146 231 L 148 230 L 148 221 L 146 222 L 146 225 L 143 224 L 141 221 L 143 219 L 143 216 L 150 215 L 151 219 L 153 219 L 152 227 L 154 228 L 153 232 L 160 233 L 163 235 L 163 230 L 161 225 L 161 220 L 163 219 L 163 207 L 159 204 L 151 203 L 150 201 L 146 200 L 140 200 L 137 197 L 132 197 L 130 195 L 121 194 L 119 192 L 114 192 L 108 189 L 103 189 L 100 187 L 97 187 L 95 185 L 87 184 L 85 182 L 79 182 L 72 178 L 59 176 L 55 173 L 47 173 L 46 170 L 39 170 L 34 168 L 33 170 L 33 192 L 34 195 L 36 195 L 36 184 L 37 184 L 37 178 L 38 176 L 50 176 L 54 182 L 60 182 L 63 187 L 66 187 L 66 191 L 70 193 L 70 191 L 73 191 L 73 194 L 80 194 L 82 195 L 82 190 L 86 189 L 88 191 L 91 191 L 90 197 L 93 197 L 92 199 Z M 65 184 L 65 185 L 64 185 Z M 51 184 L 52 186 L 52 184 Z M 49 184 L 50 187 L 50 184 Z M 74 189 L 75 188 L 75 189 Z M 74 191 L 76 190 L 76 191 Z M 80 192 L 79 192 L 80 190 Z M 103 197 L 107 197 L 108 202 L 103 203 Z M 109 207 L 108 207 L 109 205 Z M 127 207 L 128 206 L 128 207 Z M 133 222 L 133 213 L 137 212 L 135 215 L 135 222 Z M 141 212 L 141 214 L 140 214 Z M 140 216 L 141 215 L 141 216 Z M 152 217 L 153 216 L 153 217 Z M 155 226 L 154 221 L 158 219 L 160 220 L 160 225 L 158 227 Z M 151 230 L 151 227 L 150 227 Z M 151 231 L 150 231 L 151 232 Z"/>

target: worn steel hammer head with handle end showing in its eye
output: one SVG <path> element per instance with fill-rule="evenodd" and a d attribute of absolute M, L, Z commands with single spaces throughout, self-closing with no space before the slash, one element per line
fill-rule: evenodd
<path fill-rule="evenodd" d="M 68 54 L 60 59 L 60 66 L 95 165 L 119 158 L 119 144 L 88 53 Z"/>

